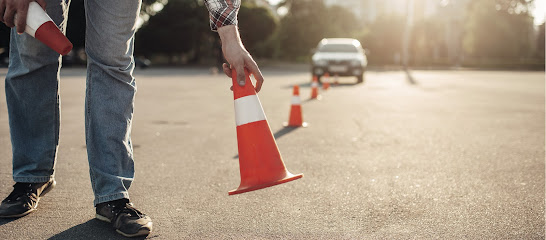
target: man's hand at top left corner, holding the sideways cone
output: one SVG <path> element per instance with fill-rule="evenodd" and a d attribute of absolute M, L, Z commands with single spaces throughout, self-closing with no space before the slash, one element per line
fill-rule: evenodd
<path fill-rule="evenodd" d="M 27 25 L 28 4 L 34 1 L 45 10 L 45 0 L 0 0 L 0 21 L 10 28 L 17 27 L 18 33 L 24 33 Z"/>

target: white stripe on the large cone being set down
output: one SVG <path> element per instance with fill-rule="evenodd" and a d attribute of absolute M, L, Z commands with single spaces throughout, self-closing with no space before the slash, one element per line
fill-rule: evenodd
<path fill-rule="evenodd" d="M 257 95 L 235 99 L 235 123 L 238 126 L 266 120 L 262 104 Z"/>

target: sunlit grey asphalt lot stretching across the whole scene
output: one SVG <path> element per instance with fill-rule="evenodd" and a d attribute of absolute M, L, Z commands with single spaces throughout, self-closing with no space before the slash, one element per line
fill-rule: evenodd
<path fill-rule="evenodd" d="M 135 205 L 151 239 L 544 239 L 544 72 L 368 72 L 308 100 L 306 71 L 263 69 L 259 94 L 294 182 L 239 185 L 230 81 L 137 70 Z M 94 220 L 83 69 L 62 72 L 57 187 L 0 239 L 118 239 Z M 5 69 L 0 70 L 0 78 Z M 307 128 L 285 129 L 292 85 Z M 11 179 L 0 81 L 0 198 Z"/>

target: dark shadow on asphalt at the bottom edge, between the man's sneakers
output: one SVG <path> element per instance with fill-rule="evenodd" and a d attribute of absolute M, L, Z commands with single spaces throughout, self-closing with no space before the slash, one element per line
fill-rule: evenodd
<path fill-rule="evenodd" d="M 152 232 L 153 234 L 153 232 Z M 153 238 L 154 236 L 148 236 Z M 65 239 L 129 239 L 117 233 L 110 223 L 102 222 L 97 219 L 91 219 L 82 224 L 71 227 L 57 235 L 50 237 L 49 240 Z M 137 237 L 130 239 L 146 239 L 146 237 Z"/>

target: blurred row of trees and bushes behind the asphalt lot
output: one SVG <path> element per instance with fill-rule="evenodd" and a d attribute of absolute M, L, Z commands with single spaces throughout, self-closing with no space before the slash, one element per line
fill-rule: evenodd
<path fill-rule="evenodd" d="M 452 63 L 448 52 L 461 52 L 461 46 L 467 62 L 526 57 L 544 59 L 544 25 L 540 26 L 541 32 L 537 35 L 529 15 L 532 2 L 469 0 L 463 14 L 457 18 L 446 17 L 449 8 L 445 8 L 437 16 L 417 19 L 410 34 L 410 63 Z M 374 22 L 364 25 L 352 11 L 336 5 L 327 7 L 323 0 L 285 0 L 280 5 L 289 11 L 279 19 L 270 9 L 258 7 L 256 3 L 255 0 L 243 0 L 238 15 L 245 47 L 256 58 L 307 61 L 311 50 L 327 37 L 359 39 L 369 50 L 368 60 L 372 65 L 396 63 L 396 56 L 402 52 L 406 26 L 403 15 L 379 13 Z M 157 12 L 157 4 L 166 5 Z M 375 4 L 377 9 L 383 9 L 386 3 Z M 84 46 L 84 16 L 83 0 L 72 0 L 67 35 L 75 49 Z M 203 0 L 143 0 L 141 16 L 149 20 L 137 32 L 135 55 L 162 56 L 171 63 L 222 61 L 219 38 L 210 31 Z M 449 30 L 458 35 L 447 34 Z M 0 45 L 6 43 L 0 41 Z M 453 45 L 457 44 L 459 46 L 453 50 Z"/>

